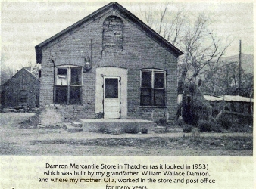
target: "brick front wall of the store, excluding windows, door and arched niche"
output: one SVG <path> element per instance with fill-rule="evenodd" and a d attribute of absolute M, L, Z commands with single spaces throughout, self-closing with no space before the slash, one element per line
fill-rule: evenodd
<path fill-rule="evenodd" d="M 54 64 L 84 66 L 84 58 L 90 57 L 92 39 L 92 70 L 83 73 L 83 96 L 81 105 L 61 106 L 66 119 L 95 118 L 95 68 L 103 66 L 128 69 L 128 118 L 151 119 L 152 113 L 161 117 L 176 115 L 177 58 L 166 48 L 151 39 L 126 17 L 115 13 L 123 21 L 123 50 L 102 50 L 104 20 L 113 14 L 95 17 L 72 32 L 64 34 L 42 50 L 42 82 L 40 104 L 53 104 Z M 52 61 L 53 60 L 53 61 Z M 157 68 L 167 73 L 167 106 L 165 108 L 139 107 L 140 70 Z"/>

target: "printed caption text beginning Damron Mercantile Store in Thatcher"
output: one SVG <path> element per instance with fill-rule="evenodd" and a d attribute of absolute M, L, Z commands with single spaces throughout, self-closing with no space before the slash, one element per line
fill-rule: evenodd
<path fill-rule="evenodd" d="M 39 183 L 100 184 L 106 189 L 148 189 L 151 184 L 215 184 L 208 164 L 45 163 Z"/>

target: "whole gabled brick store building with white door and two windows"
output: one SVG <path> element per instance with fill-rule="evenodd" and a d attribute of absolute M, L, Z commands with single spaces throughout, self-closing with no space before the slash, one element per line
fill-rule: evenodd
<path fill-rule="evenodd" d="M 62 121 L 171 118 L 181 54 L 130 11 L 110 3 L 36 46 L 40 107 Z"/>

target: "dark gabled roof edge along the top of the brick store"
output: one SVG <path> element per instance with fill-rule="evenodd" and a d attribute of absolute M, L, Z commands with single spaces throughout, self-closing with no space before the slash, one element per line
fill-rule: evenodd
<path fill-rule="evenodd" d="M 52 36 L 51 38 L 45 40 L 44 42 L 40 43 L 39 45 L 36 45 L 36 47 L 35 47 L 36 48 L 36 63 L 41 63 L 42 48 L 45 45 L 48 45 L 50 42 L 54 41 L 55 39 L 58 39 L 59 37 L 65 35 L 66 33 L 69 33 L 73 29 L 76 29 L 77 27 L 81 26 L 83 23 L 93 20 L 99 14 L 102 14 L 105 11 L 109 11 L 112 8 L 120 11 L 120 13 L 123 14 L 126 18 L 128 18 L 133 23 L 135 23 L 136 26 L 139 27 L 139 29 L 144 30 L 149 36 L 151 36 L 151 38 L 155 39 L 155 41 L 157 41 L 159 44 L 161 44 L 162 46 L 167 48 L 169 51 L 173 52 L 176 55 L 176 57 L 183 54 L 182 51 L 180 51 L 174 45 L 170 44 L 170 42 L 167 42 L 166 39 L 164 39 L 162 36 L 160 36 L 158 33 L 156 33 L 153 29 L 151 29 L 149 26 L 147 26 L 145 23 L 143 23 L 142 20 L 139 20 L 139 18 L 136 17 L 134 14 L 132 14 L 130 11 L 126 10 L 126 8 L 123 8 L 123 6 L 121 6 L 117 2 L 111 2 L 108 5 L 105 5 L 104 7 L 93 12 L 92 14 L 89 14 L 89 16 L 83 18 L 82 20 L 80 20 L 80 21 L 74 23 L 73 25 L 67 27 L 66 29 L 62 30 L 60 33 L 57 33 L 55 36 Z"/>

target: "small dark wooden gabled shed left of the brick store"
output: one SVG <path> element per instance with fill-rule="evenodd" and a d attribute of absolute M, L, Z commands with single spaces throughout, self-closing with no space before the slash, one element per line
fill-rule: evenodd
<path fill-rule="evenodd" d="M 1 88 L 2 107 L 39 107 L 40 81 L 30 72 L 30 67 L 23 67 Z"/>

